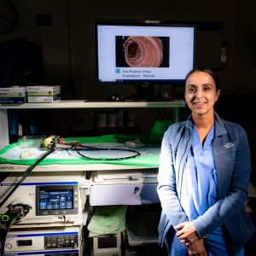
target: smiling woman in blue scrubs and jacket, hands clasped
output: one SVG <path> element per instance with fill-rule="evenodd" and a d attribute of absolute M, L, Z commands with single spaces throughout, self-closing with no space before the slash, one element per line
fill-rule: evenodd
<path fill-rule="evenodd" d="M 220 94 L 212 70 L 195 68 L 185 79 L 187 121 L 162 140 L 158 195 L 160 244 L 168 255 L 244 255 L 254 226 L 245 211 L 251 172 L 247 133 L 218 117 Z"/>

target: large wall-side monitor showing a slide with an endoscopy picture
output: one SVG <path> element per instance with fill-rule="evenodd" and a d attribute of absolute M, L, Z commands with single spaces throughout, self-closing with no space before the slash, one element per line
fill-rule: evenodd
<path fill-rule="evenodd" d="M 96 20 L 96 82 L 182 82 L 194 67 L 195 26 Z"/>

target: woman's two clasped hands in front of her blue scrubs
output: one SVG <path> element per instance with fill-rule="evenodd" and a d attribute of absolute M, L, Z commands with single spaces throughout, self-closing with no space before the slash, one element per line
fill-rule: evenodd
<path fill-rule="evenodd" d="M 195 230 L 194 224 L 191 222 L 183 222 L 177 224 L 174 229 L 177 230 L 176 236 L 178 240 L 188 247 L 189 255 L 207 256 L 206 249 L 201 243 L 201 238 Z"/>

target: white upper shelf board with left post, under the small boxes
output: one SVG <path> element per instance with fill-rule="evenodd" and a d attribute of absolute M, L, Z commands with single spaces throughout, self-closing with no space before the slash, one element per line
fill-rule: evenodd
<path fill-rule="evenodd" d="M 185 102 L 96 102 L 96 101 L 60 101 L 45 103 L 0 104 L 0 148 L 9 145 L 8 109 L 37 108 L 173 108 L 173 119 L 179 119 L 179 108 L 184 108 Z"/>

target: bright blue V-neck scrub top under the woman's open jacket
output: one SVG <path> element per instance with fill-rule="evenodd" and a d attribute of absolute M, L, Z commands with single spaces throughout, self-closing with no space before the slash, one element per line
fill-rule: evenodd
<path fill-rule="evenodd" d="M 202 147 L 193 125 L 192 146 L 183 172 L 181 206 L 189 221 L 198 218 L 211 207 L 217 198 L 217 176 L 212 156 L 214 125 Z"/>

